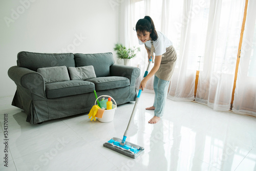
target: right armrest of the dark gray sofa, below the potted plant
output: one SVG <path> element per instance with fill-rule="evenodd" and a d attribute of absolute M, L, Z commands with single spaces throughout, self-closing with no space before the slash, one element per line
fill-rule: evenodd
<path fill-rule="evenodd" d="M 110 67 L 111 76 L 121 76 L 130 79 L 130 82 L 136 81 L 136 78 L 140 76 L 140 69 L 131 66 L 112 65 Z M 135 82 L 134 82 L 135 83 Z"/>

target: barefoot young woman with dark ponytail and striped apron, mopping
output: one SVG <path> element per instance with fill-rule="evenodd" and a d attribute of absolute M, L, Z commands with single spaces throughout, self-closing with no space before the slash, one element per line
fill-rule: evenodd
<path fill-rule="evenodd" d="M 156 31 L 154 22 L 150 16 L 145 16 L 138 20 L 136 24 L 136 32 L 139 44 L 145 45 L 148 60 L 151 56 L 152 60 L 154 60 L 154 55 L 151 55 L 151 51 L 155 52 L 154 67 L 140 82 L 140 89 L 143 90 L 146 87 L 146 82 L 155 75 L 154 104 L 153 106 L 146 108 L 146 110 L 155 110 L 155 116 L 149 120 L 148 123 L 157 123 L 160 120 L 160 117 L 163 116 L 169 81 L 174 72 L 177 55 L 172 41 L 170 41 L 163 33 Z"/>

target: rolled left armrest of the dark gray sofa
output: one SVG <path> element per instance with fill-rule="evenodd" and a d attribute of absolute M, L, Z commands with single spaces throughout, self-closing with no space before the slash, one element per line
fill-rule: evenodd
<path fill-rule="evenodd" d="M 27 68 L 13 66 L 8 70 L 8 76 L 18 87 L 29 89 L 31 93 L 45 96 L 45 80 L 41 74 Z"/>

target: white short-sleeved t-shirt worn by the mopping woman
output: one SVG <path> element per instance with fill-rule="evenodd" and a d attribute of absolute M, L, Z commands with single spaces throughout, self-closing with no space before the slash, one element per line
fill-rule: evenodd
<path fill-rule="evenodd" d="M 153 41 L 153 45 L 155 47 L 155 55 L 159 56 L 166 52 L 166 48 L 173 45 L 173 42 L 170 41 L 163 33 L 157 31 L 157 40 Z M 139 44 L 143 45 L 144 43 L 139 40 Z M 151 48 L 151 41 L 148 40 L 145 42 L 147 48 Z"/>

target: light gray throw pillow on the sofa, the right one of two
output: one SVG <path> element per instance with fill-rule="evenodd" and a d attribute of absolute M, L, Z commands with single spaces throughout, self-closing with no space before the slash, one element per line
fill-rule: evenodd
<path fill-rule="evenodd" d="M 72 80 L 96 78 L 93 66 L 69 67 L 69 73 Z"/>

